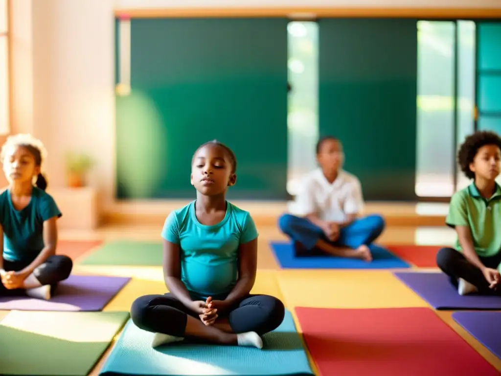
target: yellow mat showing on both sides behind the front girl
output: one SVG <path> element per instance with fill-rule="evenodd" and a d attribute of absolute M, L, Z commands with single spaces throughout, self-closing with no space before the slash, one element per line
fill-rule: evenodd
<path fill-rule="evenodd" d="M 165 294 L 167 288 L 163 281 L 132 279 L 115 298 L 103 309 L 104 311 L 129 311 L 134 300 L 142 295 Z M 272 295 L 284 301 L 274 271 L 258 271 L 252 294 Z"/>

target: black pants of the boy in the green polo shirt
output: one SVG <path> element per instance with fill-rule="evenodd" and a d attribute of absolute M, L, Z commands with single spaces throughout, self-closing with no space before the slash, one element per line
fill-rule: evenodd
<path fill-rule="evenodd" d="M 501 263 L 501 252 L 492 257 L 479 257 L 479 259 L 487 268 L 497 269 Z M 451 283 L 456 287 L 457 279 L 462 278 L 476 286 L 478 293 L 480 294 L 501 294 L 501 288 L 498 287 L 496 290 L 490 289 L 489 284 L 480 269 L 471 264 L 460 252 L 455 249 L 440 249 L 437 253 L 437 265 L 450 277 Z"/>

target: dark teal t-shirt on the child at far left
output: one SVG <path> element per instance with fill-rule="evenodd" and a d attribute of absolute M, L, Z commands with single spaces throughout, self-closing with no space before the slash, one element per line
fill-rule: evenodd
<path fill-rule="evenodd" d="M 61 217 L 56 202 L 45 191 L 33 187 L 30 204 L 16 210 L 9 190 L 0 194 L 0 223 L 4 229 L 4 259 L 30 263 L 44 248 L 44 222 Z"/>

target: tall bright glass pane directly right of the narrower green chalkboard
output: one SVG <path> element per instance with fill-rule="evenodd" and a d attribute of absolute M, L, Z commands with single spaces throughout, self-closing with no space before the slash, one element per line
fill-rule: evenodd
<path fill-rule="evenodd" d="M 454 34 L 452 22 L 417 23 L 416 195 L 454 193 Z"/>

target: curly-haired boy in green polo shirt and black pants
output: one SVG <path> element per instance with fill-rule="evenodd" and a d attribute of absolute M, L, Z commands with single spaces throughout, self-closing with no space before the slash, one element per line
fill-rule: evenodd
<path fill-rule="evenodd" d="M 456 230 L 457 242 L 455 249 L 438 251 L 437 265 L 460 295 L 501 295 L 501 187 L 495 182 L 501 171 L 501 138 L 475 132 L 466 137 L 457 158 L 473 182 L 450 200 L 445 223 Z"/>

